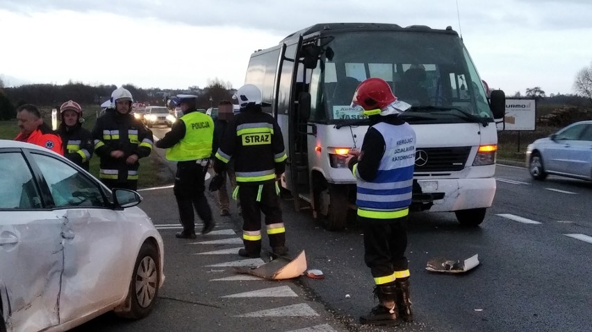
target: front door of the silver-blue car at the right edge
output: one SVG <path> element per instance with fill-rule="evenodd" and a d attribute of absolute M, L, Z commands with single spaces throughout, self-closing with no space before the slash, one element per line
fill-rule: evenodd
<path fill-rule="evenodd" d="M 570 125 L 557 132 L 543 151 L 545 168 L 550 172 L 573 174 L 574 158 L 577 155 L 577 141 L 585 126 L 582 123 Z"/>

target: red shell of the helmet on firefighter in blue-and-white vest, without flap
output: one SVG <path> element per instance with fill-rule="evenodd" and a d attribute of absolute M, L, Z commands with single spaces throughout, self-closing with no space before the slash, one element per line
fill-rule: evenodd
<path fill-rule="evenodd" d="M 368 78 L 358 85 L 352 106 L 361 106 L 365 111 L 382 110 L 397 101 L 390 85 L 381 78 Z"/>

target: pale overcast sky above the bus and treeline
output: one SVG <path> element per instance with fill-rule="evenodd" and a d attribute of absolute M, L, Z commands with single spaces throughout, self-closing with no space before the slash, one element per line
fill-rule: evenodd
<path fill-rule="evenodd" d="M 452 26 L 482 79 L 506 94 L 573 93 L 592 63 L 592 0 L 1 0 L 9 85 L 240 87 L 249 55 L 316 23 Z"/>

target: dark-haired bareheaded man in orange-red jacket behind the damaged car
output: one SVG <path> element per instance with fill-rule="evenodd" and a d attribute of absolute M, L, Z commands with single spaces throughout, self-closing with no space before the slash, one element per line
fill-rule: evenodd
<path fill-rule="evenodd" d="M 17 121 L 21 132 L 15 141 L 35 144 L 64 155 L 62 139 L 43 122 L 35 105 L 25 104 L 17 108 Z"/>

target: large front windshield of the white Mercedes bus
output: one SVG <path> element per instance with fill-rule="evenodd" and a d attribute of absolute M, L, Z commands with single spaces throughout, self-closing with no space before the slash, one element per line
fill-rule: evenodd
<path fill-rule="evenodd" d="M 331 123 L 359 123 L 350 104 L 366 78 L 382 78 L 397 98 L 411 104 L 408 122 L 493 121 L 486 92 L 457 35 L 421 31 L 335 33 L 313 69 L 313 101 Z"/>

